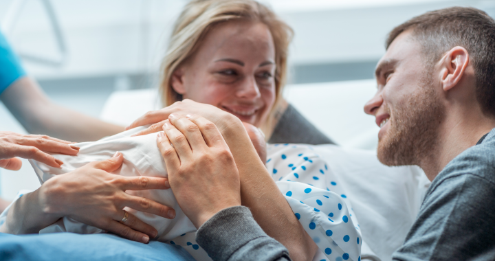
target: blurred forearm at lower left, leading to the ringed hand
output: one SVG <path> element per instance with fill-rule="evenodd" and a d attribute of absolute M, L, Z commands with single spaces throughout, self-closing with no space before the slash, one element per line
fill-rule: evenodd
<path fill-rule="evenodd" d="M 7 219 L 0 227 L 1 233 L 36 234 L 58 220 L 54 214 L 46 214 L 39 201 L 40 189 L 24 194 L 8 210 Z"/>

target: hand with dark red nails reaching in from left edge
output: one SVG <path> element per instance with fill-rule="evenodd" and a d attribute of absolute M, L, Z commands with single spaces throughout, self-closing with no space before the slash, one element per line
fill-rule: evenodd
<path fill-rule="evenodd" d="M 63 162 L 47 152 L 76 155 L 79 148 L 71 144 L 70 141 L 45 135 L 21 135 L 0 131 L 0 168 L 19 170 L 22 161 L 17 157 L 34 159 L 48 166 L 59 168 Z"/>

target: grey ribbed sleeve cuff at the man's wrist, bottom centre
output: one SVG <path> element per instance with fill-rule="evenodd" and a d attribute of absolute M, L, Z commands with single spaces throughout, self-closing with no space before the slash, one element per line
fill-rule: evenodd
<path fill-rule="evenodd" d="M 218 212 L 196 233 L 196 242 L 212 260 L 290 261 L 289 252 L 265 234 L 248 207 Z"/>

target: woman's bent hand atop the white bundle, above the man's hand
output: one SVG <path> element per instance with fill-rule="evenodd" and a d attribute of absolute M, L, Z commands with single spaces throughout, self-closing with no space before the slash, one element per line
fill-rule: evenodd
<path fill-rule="evenodd" d="M 183 100 L 181 102 L 175 102 L 174 104 L 165 107 L 164 109 L 160 109 L 158 111 L 148 111 L 146 114 L 139 117 L 135 120 L 131 125 L 126 127 L 126 130 L 131 128 L 144 126 L 148 124 L 153 124 L 146 128 L 144 131 L 140 131 L 133 136 L 146 135 L 149 133 L 157 133 L 162 131 L 162 126 L 164 122 L 168 119 L 168 115 L 171 113 L 182 114 L 182 115 L 201 115 L 205 117 L 210 122 L 213 122 L 217 125 L 217 128 L 220 130 L 225 127 L 225 124 L 229 124 L 228 119 L 237 119 L 234 115 L 222 111 L 216 106 L 210 104 L 203 104 L 199 102 L 195 102 L 193 100 Z M 240 122 L 240 120 L 239 120 Z"/>

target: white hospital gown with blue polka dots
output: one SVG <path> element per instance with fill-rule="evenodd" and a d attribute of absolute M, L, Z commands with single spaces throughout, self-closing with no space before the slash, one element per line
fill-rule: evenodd
<path fill-rule="evenodd" d="M 362 236 L 358 220 L 327 162 L 307 145 L 272 144 L 267 155 L 267 170 L 327 260 L 359 261 Z M 174 238 L 170 244 L 184 247 L 196 260 L 211 260 L 195 242 L 194 232 Z"/>

